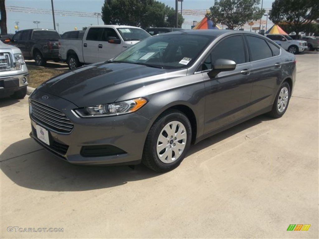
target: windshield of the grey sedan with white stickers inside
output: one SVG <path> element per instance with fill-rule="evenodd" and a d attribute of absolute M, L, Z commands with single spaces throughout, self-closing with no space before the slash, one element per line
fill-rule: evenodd
<path fill-rule="evenodd" d="M 147 38 L 113 59 L 163 69 L 180 69 L 194 63 L 213 36 L 164 34 Z"/>

